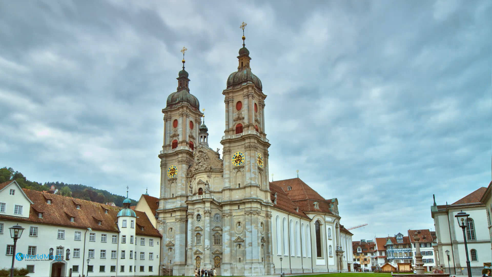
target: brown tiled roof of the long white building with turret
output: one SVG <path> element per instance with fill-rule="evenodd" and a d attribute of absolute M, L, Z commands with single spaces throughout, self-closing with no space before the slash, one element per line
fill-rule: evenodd
<path fill-rule="evenodd" d="M 80 209 L 77 209 L 74 204 L 74 198 L 30 189 L 23 190 L 26 196 L 34 203 L 31 205 L 29 218 L 8 215 L 0 215 L 0 218 L 81 229 L 90 227 L 93 230 L 119 232 L 116 222 L 118 221 L 117 214 L 122 209 L 120 207 L 77 199 L 76 201 L 81 203 Z M 45 195 L 50 196 L 53 204 L 46 202 Z M 108 210 L 108 213 L 104 212 L 105 209 Z M 42 218 L 38 217 L 38 212 L 43 213 Z M 161 237 L 157 229 L 152 227 L 152 223 L 145 213 L 135 212 L 137 213 L 136 223 L 144 226 L 144 231 L 135 230 L 137 234 Z M 74 222 L 70 222 L 70 217 L 74 217 Z M 98 225 L 97 221 L 101 221 L 101 225 Z"/>

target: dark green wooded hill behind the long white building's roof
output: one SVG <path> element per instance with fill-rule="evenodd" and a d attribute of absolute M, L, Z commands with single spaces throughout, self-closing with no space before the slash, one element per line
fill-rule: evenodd
<path fill-rule="evenodd" d="M 45 182 L 41 184 L 39 182 L 28 180 L 22 173 L 15 171 L 12 168 L 0 169 L 0 183 L 8 180 L 15 180 L 22 188 L 27 188 L 37 191 L 47 191 L 52 185 L 58 189 L 58 194 L 63 196 L 70 196 L 73 198 L 89 200 L 106 204 L 106 202 L 114 202 L 116 206 L 123 207 L 124 196 L 112 194 L 107 190 L 96 189 L 90 186 L 81 184 L 65 184 L 63 182 Z M 131 206 L 137 205 L 137 202 L 131 200 Z"/>

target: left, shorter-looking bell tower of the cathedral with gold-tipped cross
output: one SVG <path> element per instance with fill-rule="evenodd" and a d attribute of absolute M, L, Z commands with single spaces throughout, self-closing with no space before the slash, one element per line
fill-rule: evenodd
<path fill-rule="evenodd" d="M 163 235 L 162 242 L 174 241 L 175 245 L 186 245 L 186 208 L 187 200 L 186 174 L 193 162 L 193 151 L 198 145 L 198 127 L 202 113 L 198 99 L 189 93 L 188 72 L 183 69 L 178 73 L 178 87 L 171 93 L 162 109 L 164 114 L 164 135 L 160 159 L 160 198 L 158 214 L 158 229 Z M 172 230 L 172 231 L 169 231 Z M 172 234 L 166 240 L 168 234 Z M 186 253 L 183 247 L 168 251 L 162 243 L 160 261 L 166 268 L 173 268 L 179 275 L 184 274 Z M 169 261 L 172 261 L 170 263 Z"/>

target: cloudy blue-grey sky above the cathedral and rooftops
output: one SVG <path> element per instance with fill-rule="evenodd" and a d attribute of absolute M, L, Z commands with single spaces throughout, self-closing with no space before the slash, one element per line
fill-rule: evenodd
<path fill-rule="evenodd" d="M 158 196 L 186 46 L 213 149 L 245 21 L 270 173 L 338 198 L 354 240 L 433 229 L 491 181 L 492 1 L 0 1 L 0 167 Z"/>

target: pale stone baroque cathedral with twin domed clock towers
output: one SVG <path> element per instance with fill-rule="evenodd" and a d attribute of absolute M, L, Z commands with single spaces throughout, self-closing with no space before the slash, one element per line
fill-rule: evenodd
<path fill-rule="evenodd" d="M 251 71 L 244 26 L 238 68 L 222 91 L 222 157 L 208 145 L 184 58 L 177 90 L 162 109 L 155 214 L 161 270 L 174 276 L 193 276 L 195 268 L 222 276 L 352 271 L 352 234 L 340 225 L 337 198 L 323 198 L 300 178 L 269 182 L 267 96 Z"/>

